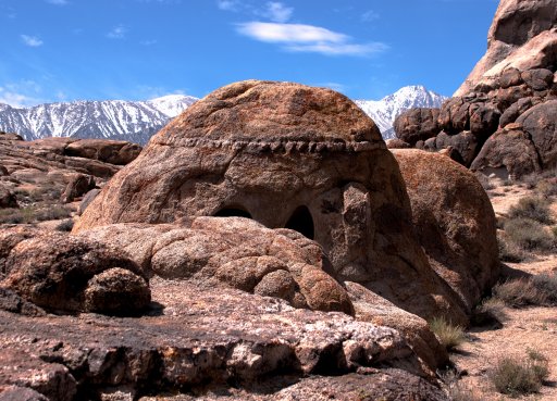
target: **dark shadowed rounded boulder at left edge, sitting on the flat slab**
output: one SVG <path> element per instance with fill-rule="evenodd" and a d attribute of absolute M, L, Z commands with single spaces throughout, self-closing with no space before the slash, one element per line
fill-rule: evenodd
<path fill-rule="evenodd" d="M 139 267 L 115 248 L 14 228 L 2 231 L 0 250 L 0 288 L 42 309 L 133 315 L 150 302 Z"/>

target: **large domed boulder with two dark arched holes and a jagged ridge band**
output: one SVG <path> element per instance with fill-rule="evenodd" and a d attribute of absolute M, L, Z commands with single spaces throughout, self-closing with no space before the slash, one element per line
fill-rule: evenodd
<path fill-rule="evenodd" d="M 423 317 L 466 321 L 414 237 L 377 127 L 330 89 L 249 80 L 210 93 L 114 176 L 74 233 L 231 215 L 314 239 L 339 280 Z"/>

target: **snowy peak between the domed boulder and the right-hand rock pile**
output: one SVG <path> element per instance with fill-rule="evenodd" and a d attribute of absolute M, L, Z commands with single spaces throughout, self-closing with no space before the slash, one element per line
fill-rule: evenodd
<path fill-rule="evenodd" d="M 432 92 L 423 86 L 405 86 L 381 100 L 356 100 L 356 104 L 377 125 L 384 139 L 395 137 L 393 123 L 407 110 L 414 108 L 441 108 L 445 96 Z"/>

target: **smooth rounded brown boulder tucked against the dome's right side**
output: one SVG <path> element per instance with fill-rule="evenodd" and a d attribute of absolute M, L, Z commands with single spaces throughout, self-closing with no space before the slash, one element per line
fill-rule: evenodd
<path fill-rule="evenodd" d="M 470 312 L 499 275 L 490 199 L 472 173 L 446 156 L 413 149 L 393 152 L 430 263 Z"/>

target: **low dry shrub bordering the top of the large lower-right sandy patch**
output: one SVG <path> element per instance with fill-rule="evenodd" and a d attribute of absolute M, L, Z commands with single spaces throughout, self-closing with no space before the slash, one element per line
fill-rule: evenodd
<path fill-rule="evenodd" d="M 546 296 L 529 278 L 517 278 L 497 284 L 493 287 L 493 296 L 510 308 L 544 305 L 546 303 Z"/>

